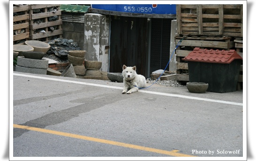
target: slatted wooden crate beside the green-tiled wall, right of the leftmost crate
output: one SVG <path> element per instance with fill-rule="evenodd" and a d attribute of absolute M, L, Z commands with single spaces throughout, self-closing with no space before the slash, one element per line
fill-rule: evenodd
<path fill-rule="evenodd" d="M 56 7 L 56 11 L 49 11 Z M 41 13 L 35 13 L 40 9 Z M 58 16 L 57 20 L 49 21 L 48 18 Z M 50 41 L 55 38 L 62 38 L 62 20 L 60 18 L 60 5 L 31 5 L 30 8 L 30 40 Z M 54 30 L 51 30 L 51 27 Z M 45 31 L 41 32 L 40 31 Z"/>

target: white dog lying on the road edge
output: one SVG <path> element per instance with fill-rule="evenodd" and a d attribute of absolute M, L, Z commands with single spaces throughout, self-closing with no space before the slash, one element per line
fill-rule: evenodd
<path fill-rule="evenodd" d="M 123 65 L 124 88 L 122 94 L 131 94 L 139 91 L 139 88 L 146 87 L 146 78 L 136 73 L 136 66 L 127 67 Z"/>

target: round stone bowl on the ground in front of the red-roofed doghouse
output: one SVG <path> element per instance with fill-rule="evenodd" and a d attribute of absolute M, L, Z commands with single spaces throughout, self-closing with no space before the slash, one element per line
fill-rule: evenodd
<path fill-rule="evenodd" d="M 187 82 L 188 91 L 191 93 L 204 93 L 207 91 L 209 84 L 202 82 Z"/>

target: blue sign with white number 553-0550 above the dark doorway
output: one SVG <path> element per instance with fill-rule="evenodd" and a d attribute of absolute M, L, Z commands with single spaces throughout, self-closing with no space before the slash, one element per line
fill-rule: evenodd
<path fill-rule="evenodd" d="M 176 14 L 176 5 L 91 5 L 92 8 L 137 14 Z"/>

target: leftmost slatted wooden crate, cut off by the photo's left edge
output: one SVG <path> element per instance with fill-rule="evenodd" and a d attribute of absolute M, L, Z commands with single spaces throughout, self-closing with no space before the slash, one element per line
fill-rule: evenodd
<path fill-rule="evenodd" d="M 29 40 L 29 9 L 30 5 L 13 7 L 13 44 Z"/>

